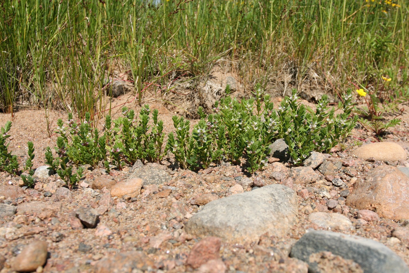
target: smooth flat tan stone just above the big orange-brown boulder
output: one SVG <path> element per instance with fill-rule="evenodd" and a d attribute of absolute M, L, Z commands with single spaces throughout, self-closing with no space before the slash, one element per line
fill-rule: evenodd
<path fill-rule="evenodd" d="M 364 160 L 373 158 L 379 161 L 398 161 L 406 160 L 407 153 L 397 143 L 394 142 L 375 142 L 362 145 L 355 149 L 352 154 Z"/>

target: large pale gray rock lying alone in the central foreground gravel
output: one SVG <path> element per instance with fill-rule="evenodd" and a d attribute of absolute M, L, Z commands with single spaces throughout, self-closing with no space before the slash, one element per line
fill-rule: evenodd
<path fill-rule="evenodd" d="M 297 222 L 297 194 L 283 185 L 268 185 L 206 204 L 189 220 L 185 231 L 227 241 L 256 241 L 265 232 L 284 236 Z"/>

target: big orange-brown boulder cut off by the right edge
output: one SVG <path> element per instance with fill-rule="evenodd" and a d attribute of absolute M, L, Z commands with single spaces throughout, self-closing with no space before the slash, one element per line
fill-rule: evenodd
<path fill-rule="evenodd" d="M 346 205 L 374 210 L 380 217 L 409 218 L 409 178 L 396 167 L 380 166 L 358 179 Z"/>

